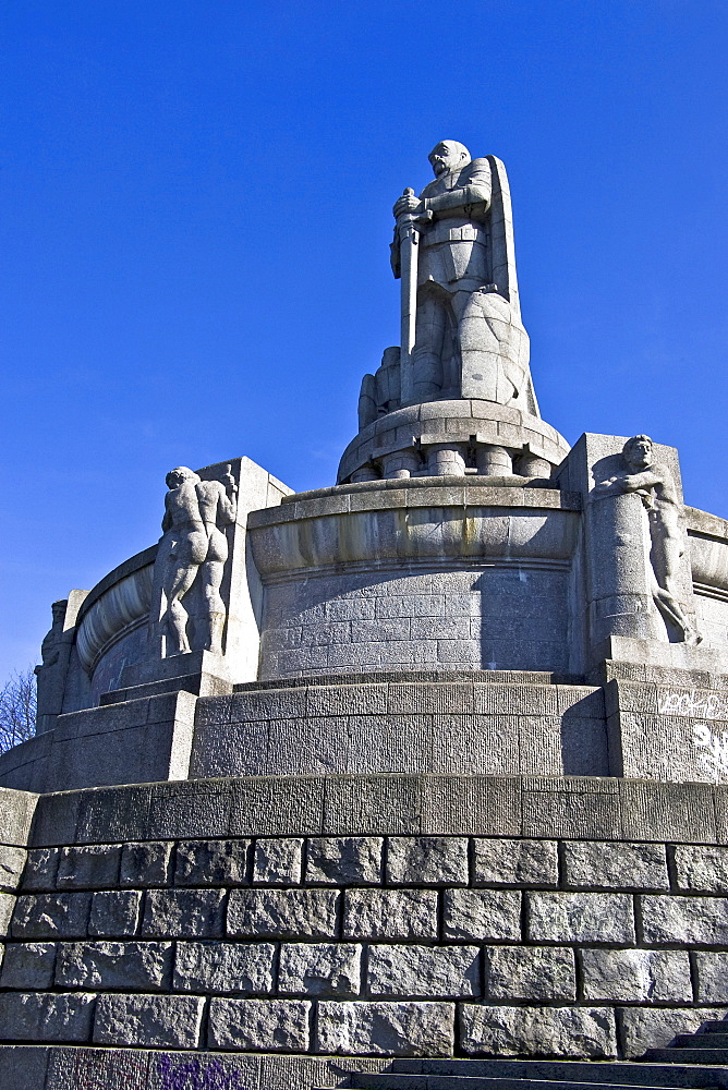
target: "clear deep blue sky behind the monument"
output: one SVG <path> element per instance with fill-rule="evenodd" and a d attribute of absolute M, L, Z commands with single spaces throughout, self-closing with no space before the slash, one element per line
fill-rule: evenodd
<path fill-rule="evenodd" d="M 165 473 L 332 483 L 398 339 L 391 205 L 505 159 L 544 417 L 728 517 L 725 0 L 8 0 L 0 679 L 159 534 Z"/>

